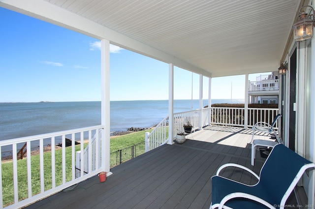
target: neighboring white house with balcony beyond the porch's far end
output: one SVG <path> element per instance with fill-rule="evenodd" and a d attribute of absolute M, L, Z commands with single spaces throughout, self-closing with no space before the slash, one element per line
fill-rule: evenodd
<path fill-rule="evenodd" d="M 249 104 L 278 104 L 279 73 L 260 75 L 256 81 L 248 81 Z"/>

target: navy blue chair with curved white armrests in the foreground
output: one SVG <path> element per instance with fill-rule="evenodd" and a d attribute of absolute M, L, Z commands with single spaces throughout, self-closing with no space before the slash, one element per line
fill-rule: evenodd
<path fill-rule="evenodd" d="M 225 167 L 243 168 L 258 179 L 255 185 L 247 185 L 219 176 Z M 301 157 L 283 144 L 276 145 L 257 176 L 250 169 L 228 163 L 222 165 L 212 179 L 212 203 L 210 209 L 279 209 L 296 186 L 303 173 L 314 169 L 315 164 Z"/>

